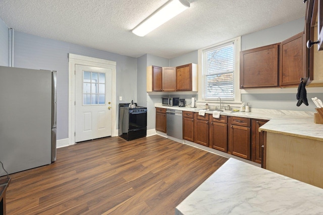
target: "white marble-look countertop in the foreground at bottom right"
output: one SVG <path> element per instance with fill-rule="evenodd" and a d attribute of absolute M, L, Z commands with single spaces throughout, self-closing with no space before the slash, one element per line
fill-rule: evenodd
<path fill-rule="evenodd" d="M 323 189 L 230 158 L 175 214 L 322 214 Z"/>

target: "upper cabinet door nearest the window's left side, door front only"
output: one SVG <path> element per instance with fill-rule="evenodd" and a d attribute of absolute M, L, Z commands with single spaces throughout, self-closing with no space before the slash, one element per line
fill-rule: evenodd
<path fill-rule="evenodd" d="M 192 91 L 192 64 L 176 67 L 176 90 Z"/>

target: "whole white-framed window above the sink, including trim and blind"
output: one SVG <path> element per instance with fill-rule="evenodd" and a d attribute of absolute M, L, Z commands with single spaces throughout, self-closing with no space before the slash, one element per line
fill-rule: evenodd
<path fill-rule="evenodd" d="M 240 101 L 240 37 L 199 50 L 202 100 Z"/>

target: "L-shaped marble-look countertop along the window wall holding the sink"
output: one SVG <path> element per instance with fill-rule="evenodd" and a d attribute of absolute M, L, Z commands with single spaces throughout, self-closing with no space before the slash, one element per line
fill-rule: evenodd
<path fill-rule="evenodd" d="M 156 104 L 155 107 L 194 112 L 198 112 L 199 109 L 202 109 L 176 106 L 169 107 L 161 104 Z M 212 113 L 212 111 L 206 111 L 206 113 Z M 323 141 L 323 124 L 314 123 L 314 113 L 315 112 L 251 108 L 251 112 L 222 112 L 221 115 L 270 120 L 262 125 L 259 128 L 259 131 L 263 130 Z"/>

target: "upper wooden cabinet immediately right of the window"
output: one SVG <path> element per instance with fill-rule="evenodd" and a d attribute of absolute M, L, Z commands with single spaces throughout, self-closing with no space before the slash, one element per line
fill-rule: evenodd
<path fill-rule="evenodd" d="M 278 87 L 279 43 L 240 52 L 240 89 Z"/>

